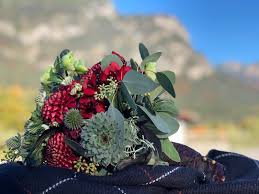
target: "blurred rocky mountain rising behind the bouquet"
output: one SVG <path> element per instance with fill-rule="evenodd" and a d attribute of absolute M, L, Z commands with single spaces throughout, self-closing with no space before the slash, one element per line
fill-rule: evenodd
<path fill-rule="evenodd" d="M 181 110 L 208 120 L 259 113 L 254 82 L 214 70 L 176 17 L 120 16 L 108 0 L 0 0 L 0 85 L 38 87 L 40 73 L 64 48 L 88 65 L 112 50 L 139 61 L 139 42 L 163 52 L 159 70 L 176 72 Z"/>

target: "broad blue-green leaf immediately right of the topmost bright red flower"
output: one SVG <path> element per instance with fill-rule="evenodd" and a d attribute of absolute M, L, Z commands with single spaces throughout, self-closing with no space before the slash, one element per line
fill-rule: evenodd
<path fill-rule="evenodd" d="M 137 71 L 129 71 L 124 79 L 123 83 L 131 92 L 131 94 L 145 94 L 153 91 L 158 87 L 158 84 L 151 79 Z"/>

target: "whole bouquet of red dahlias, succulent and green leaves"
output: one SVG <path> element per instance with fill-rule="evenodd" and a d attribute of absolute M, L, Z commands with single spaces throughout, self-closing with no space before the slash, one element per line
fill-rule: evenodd
<path fill-rule="evenodd" d="M 90 175 L 179 162 L 168 139 L 179 128 L 175 74 L 157 72 L 161 52 L 142 43 L 139 51 L 140 64 L 112 52 L 90 68 L 62 51 L 41 78 L 24 134 L 7 140 L 6 160 Z"/>

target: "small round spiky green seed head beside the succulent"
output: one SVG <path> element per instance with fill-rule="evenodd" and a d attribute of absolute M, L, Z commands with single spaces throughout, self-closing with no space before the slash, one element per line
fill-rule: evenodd
<path fill-rule="evenodd" d="M 80 129 L 83 124 L 83 117 L 80 111 L 74 108 L 68 110 L 65 115 L 64 123 L 66 127 L 71 130 Z"/>

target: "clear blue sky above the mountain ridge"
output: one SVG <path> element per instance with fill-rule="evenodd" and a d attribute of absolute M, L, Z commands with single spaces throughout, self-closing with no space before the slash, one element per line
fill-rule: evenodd
<path fill-rule="evenodd" d="M 257 0 L 114 0 L 119 14 L 175 15 L 194 49 L 216 65 L 259 62 Z"/>

